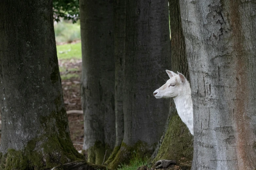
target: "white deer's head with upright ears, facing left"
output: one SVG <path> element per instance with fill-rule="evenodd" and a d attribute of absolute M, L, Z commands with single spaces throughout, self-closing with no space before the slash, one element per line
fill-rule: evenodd
<path fill-rule="evenodd" d="M 169 80 L 166 81 L 162 87 L 157 89 L 153 94 L 157 99 L 160 98 L 169 98 L 169 97 L 177 97 L 182 96 L 184 94 L 191 95 L 191 89 L 188 80 L 185 76 L 178 72 L 178 74 L 165 70 Z"/>

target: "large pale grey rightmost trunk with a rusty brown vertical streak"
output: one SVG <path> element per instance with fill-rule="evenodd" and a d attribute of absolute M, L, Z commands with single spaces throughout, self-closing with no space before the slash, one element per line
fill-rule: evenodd
<path fill-rule="evenodd" d="M 180 0 L 194 107 L 192 169 L 256 168 L 256 4 Z"/>

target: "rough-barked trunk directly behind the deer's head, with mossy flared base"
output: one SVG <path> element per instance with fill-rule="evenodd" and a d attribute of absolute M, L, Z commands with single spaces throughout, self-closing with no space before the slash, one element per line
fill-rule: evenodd
<path fill-rule="evenodd" d="M 189 80 L 179 0 L 169 0 L 169 8 L 171 28 L 171 70 L 174 72 L 179 71 Z M 168 77 L 167 74 L 165 77 Z M 193 159 L 193 136 L 190 134 L 185 123 L 179 118 L 173 99 L 171 99 L 170 111 L 166 121 L 164 134 L 150 160 L 154 164 L 161 159 L 181 160 L 178 164 L 182 166 L 183 169 L 190 169 Z"/>

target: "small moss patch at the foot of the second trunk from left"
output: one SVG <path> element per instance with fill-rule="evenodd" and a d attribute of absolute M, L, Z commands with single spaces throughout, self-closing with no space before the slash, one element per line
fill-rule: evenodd
<path fill-rule="evenodd" d="M 86 151 L 88 155 L 88 162 L 101 165 L 104 160 L 105 152 L 105 159 L 107 159 L 112 150 L 108 145 L 104 145 L 102 142 L 96 141 L 94 146 L 87 149 Z"/>

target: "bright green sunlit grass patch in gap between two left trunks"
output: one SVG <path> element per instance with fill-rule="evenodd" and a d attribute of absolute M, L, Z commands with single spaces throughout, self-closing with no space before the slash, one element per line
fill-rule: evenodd
<path fill-rule="evenodd" d="M 82 59 L 81 43 L 58 45 L 58 59 Z"/>

